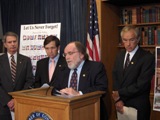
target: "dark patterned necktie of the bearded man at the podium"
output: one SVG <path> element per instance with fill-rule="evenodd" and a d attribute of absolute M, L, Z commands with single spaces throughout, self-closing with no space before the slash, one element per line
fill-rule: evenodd
<path fill-rule="evenodd" d="M 74 69 L 74 72 L 72 73 L 70 87 L 77 90 L 77 69 Z"/>

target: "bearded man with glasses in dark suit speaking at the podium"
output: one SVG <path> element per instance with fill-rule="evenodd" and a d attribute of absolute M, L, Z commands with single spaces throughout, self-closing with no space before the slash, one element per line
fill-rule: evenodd
<path fill-rule="evenodd" d="M 68 67 L 61 69 L 54 84 L 62 94 L 82 95 L 94 91 L 106 91 L 107 75 L 104 65 L 101 62 L 89 61 L 86 49 L 80 42 L 69 43 L 65 47 L 64 57 Z M 75 71 L 76 75 L 73 75 Z M 72 75 L 76 78 L 76 82 L 72 82 Z M 105 108 L 101 110 L 102 113 Z M 101 120 L 107 120 L 107 116 L 103 118 L 101 116 Z"/>

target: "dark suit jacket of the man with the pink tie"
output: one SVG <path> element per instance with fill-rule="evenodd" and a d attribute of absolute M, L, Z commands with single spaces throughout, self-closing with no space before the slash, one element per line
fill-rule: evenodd
<path fill-rule="evenodd" d="M 47 83 L 49 85 L 53 84 L 59 69 L 62 69 L 64 66 L 66 66 L 66 60 L 62 56 L 59 57 L 51 82 L 49 82 L 48 64 L 49 64 L 49 57 L 41 59 L 37 62 L 37 69 L 35 74 L 35 80 L 36 80 L 35 87 L 41 87 L 44 83 Z"/>

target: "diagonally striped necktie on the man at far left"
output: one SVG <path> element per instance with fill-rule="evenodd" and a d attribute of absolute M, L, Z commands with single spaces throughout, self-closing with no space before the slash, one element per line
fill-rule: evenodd
<path fill-rule="evenodd" d="M 11 55 L 11 75 L 12 75 L 12 81 L 15 82 L 15 79 L 16 79 L 16 62 L 14 60 L 13 55 Z"/>

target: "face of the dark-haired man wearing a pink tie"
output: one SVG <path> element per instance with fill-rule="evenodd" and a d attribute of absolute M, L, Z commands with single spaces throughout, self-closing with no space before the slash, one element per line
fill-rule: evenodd
<path fill-rule="evenodd" d="M 58 48 L 56 47 L 55 41 L 51 41 L 50 43 L 45 45 L 44 48 L 46 50 L 47 56 L 50 58 L 56 57 L 59 51 L 59 47 Z"/>

